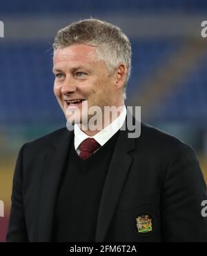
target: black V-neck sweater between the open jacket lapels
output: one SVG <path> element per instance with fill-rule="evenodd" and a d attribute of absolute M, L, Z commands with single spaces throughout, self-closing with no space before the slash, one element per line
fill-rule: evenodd
<path fill-rule="evenodd" d="M 74 137 L 55 209 L 53 242 L 94 242 L 103 185 L 119 131 L 92 157 L 77 155 Z"/>

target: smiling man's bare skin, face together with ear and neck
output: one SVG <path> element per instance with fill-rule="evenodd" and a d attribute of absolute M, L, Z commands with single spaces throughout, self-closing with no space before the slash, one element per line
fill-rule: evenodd
<path fill-rule="evenodd" d="M 97 47 L 83 43 L 66 48 L 57 48 L 54 54 L 54 92 L 66 119 L 79 126 L 88 124 L 93 116 L 88 109 L 113 106 L 124 108 L 122 85 L 126 79 L 126 63 L 118 63 L 117 69 L 109 73 L 105 61 L 97 57 Z M 114 70 L 113 70 L 114 71 Z M 68 87 L 70 84 L 70 87 Z M 87 101 L 87 108 L 82 108 Z M 86 106 L 86 105 L 85 105 Z M 101 124 L 104 128 L 104 115 Z M 112 118 L 110 122 L 114 121 Z M 88 129 L 86 133 L 95 135 L 98 130 Z"/>

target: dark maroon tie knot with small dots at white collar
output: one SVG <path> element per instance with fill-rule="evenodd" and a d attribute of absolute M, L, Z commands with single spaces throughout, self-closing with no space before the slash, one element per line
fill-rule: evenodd
<path fill-rule="evenodd" d="M 93 138 L 87 138 L 83 140 L 80 145 L 80 155 L 82 159 L 91 157 L 93 152 L 99 148 L 100 144 Z"/>

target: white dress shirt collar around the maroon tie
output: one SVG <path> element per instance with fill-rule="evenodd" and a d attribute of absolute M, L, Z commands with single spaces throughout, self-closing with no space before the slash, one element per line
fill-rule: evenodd
<path fill-rule="evenodd" d="M 75 144 L 75 150 L 77 154 L 79 155 L 80 153 L 80 150 L 79 150 L 80 144 L 83 142 L 83 140 L 87 138 L 94 138 L 101 146 L 106 144 L 106 142 L 113 135 L 115 135 L 115 133 L 121 128 L 121 126 L 123 126 L 125 119 L 126 119 L 126 106 L 124 105 L 124 108 L 121 111 L 121 114 L 119 115 L 119 117 L 117 117 L 114 121 L 112 121 L 112 123 L 110 123 L 108 126 L 103 128 L 103 130 L 100 130 L 96 135 L 92 137 L 86 135 L 86 133 L 83 132 L 77 124 L 75 124 L 74 125 L 74 134 L 75 134 L 74 144 Z"/>

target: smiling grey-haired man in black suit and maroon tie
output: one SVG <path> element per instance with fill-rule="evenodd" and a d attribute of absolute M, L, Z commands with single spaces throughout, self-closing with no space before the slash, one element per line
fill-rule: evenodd
<path fill-rule="evenodd" d="M 74 131 L 21 148 L 8 242 L 207 242 L 195 152 L 126 110 L 130 61 L 128 38 L 110 23 L 86 19 L 59 30 L 54 91 Z M 101 129 L 88 126 L 95 114 L 84 106 L 99 107 Z M 106 106 L 119 109 L 108 123 Z M 129 136 L 132 121 L 138 137 Z"/>

